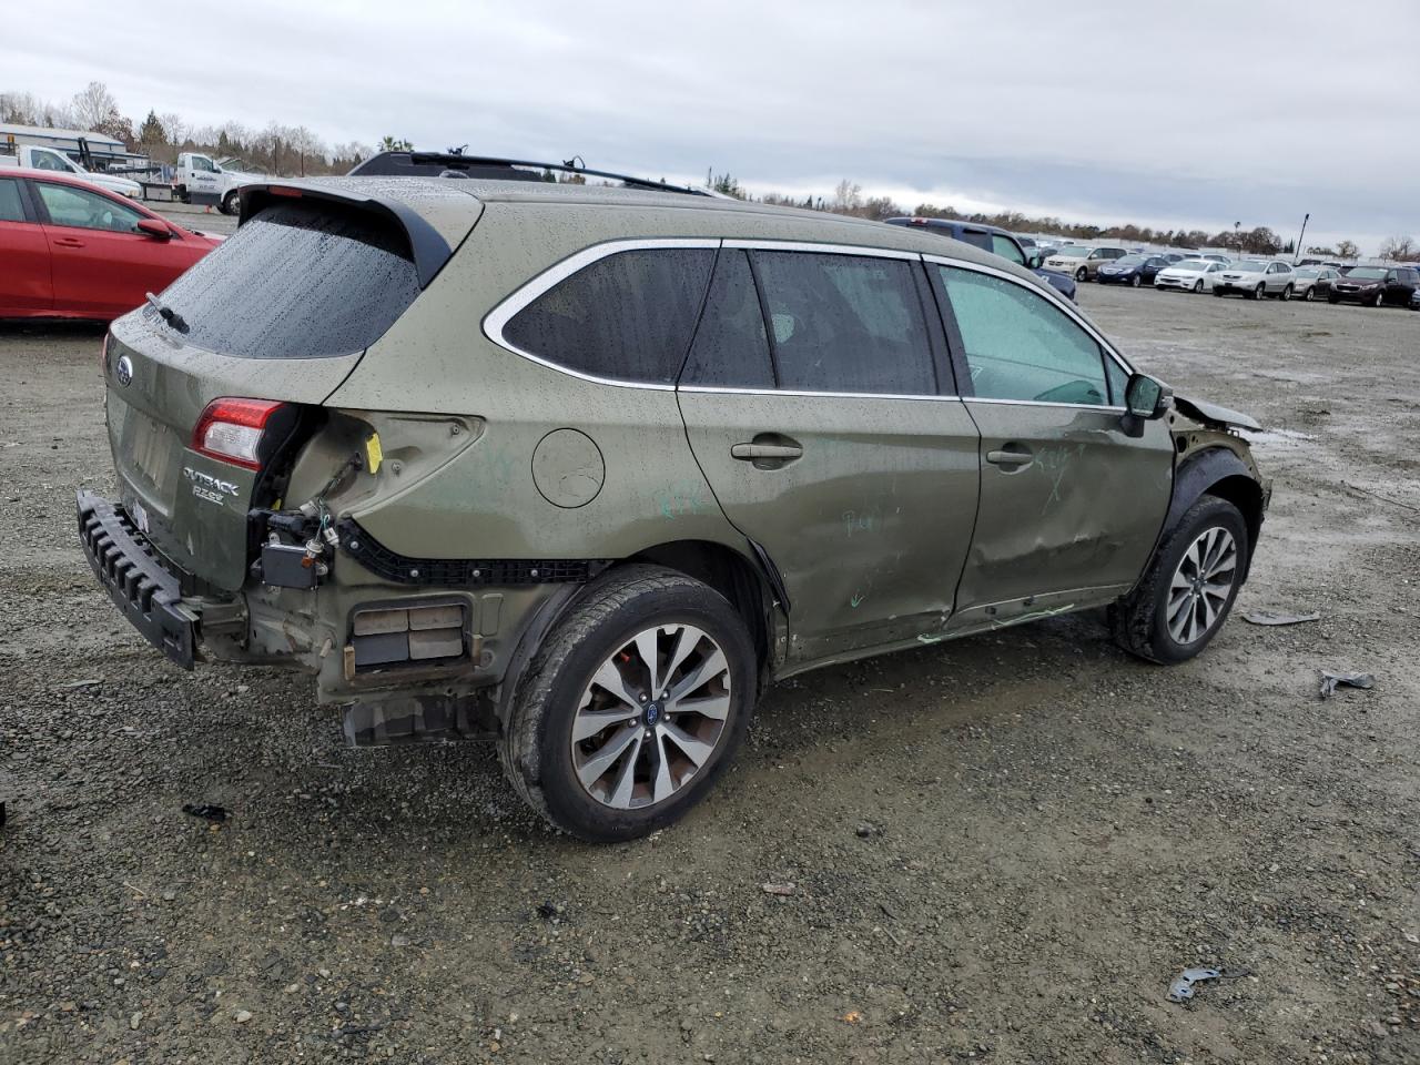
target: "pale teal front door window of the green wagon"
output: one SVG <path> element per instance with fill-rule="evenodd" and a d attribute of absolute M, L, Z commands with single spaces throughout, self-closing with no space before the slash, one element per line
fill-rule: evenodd
<path fill-rule="evenodd" d="M 976 396 L 1109 403 L 1099 344 L 1049 300 L 990 274 L 937 268 Z"/>

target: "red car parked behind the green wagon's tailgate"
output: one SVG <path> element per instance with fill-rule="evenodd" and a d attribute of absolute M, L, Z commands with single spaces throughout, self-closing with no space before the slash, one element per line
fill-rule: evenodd
<path fill-rule="evenodd" d="M 0 318 L 109 321 L 214 247 L 81 178 L 0 168 Z"/>

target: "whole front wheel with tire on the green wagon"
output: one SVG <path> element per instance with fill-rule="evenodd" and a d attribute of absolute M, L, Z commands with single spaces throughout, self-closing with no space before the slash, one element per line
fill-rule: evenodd
<path fill-rule="evenodd" d="M 1242 513 L 1201 496 L 1164 535 L 1139 585 L 1109 608 L 1115 642 L 1164 666 L 1198 655 L 1227 621 L 1251 550 Z"/>

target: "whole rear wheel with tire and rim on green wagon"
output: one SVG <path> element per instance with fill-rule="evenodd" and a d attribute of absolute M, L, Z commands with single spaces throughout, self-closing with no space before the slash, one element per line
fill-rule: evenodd
<path fill-rule="evenodd" d="M 679 819 L 728 765 L 758 663 L 714 589 L 633 565 L 586 588 L 538 649 L 498 738 L 503 770 L 552 825 L 589 842 Z"/>

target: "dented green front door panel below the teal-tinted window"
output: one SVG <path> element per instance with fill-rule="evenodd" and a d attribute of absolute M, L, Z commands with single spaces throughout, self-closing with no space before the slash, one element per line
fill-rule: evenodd
<path fill-rule="evenodd" d="M 981 503 L 953 628 L 1108 602 L 1153 551 L 1173 490 L 1163 420 L 1130 437 L 1116 408 L 967 399 L 981 430 Z M 1030 462 L 1003 464 L 1000 452 Z"/>

